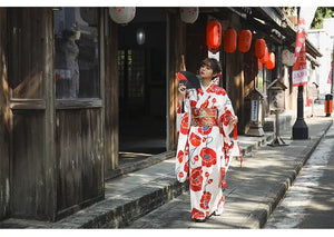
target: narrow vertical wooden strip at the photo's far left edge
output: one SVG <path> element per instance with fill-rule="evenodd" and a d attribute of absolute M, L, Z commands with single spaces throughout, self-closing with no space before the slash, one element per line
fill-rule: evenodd
<path fill-rule="evenodd" d="M 0 8 L 0 220 L 9 211 L 9 95 L 7 78 L 7 10 Z"/>

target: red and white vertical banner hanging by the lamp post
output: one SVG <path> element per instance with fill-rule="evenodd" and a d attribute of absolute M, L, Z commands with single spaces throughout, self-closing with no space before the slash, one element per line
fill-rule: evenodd
<path fill-rule="evenodd" d="M 294 87 L 304 86 L 307 83 L 305 34 L 305 20 L 304 18 L 299 18 L 293 67 Z"/>

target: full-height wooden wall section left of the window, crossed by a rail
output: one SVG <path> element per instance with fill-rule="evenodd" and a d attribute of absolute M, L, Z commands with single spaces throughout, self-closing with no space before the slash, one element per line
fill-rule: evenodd
<path fill-rule="evenodd" d="M 9 8 L 10 214 L 55 220 L 53 13 Z"/>

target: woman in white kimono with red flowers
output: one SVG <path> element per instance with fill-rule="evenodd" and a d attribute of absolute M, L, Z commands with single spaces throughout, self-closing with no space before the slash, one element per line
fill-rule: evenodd
<path fill-rule="evenodd" d="M 191 218 L 196 221 L 223 213 L 223 188 L 229 166 L 227 151 L 233 146 L 228 135 L 237 124 L 237 117 L 226 91 L 213 81 L 220 73 L 216 59 L 204 59 L 199 68 L 202 87 L 186 89 L 180 83 L 178 88 L 175 171 L 180 182 L 189 178 Z M 185 111 L 181 113 L 183 101 Z"/>

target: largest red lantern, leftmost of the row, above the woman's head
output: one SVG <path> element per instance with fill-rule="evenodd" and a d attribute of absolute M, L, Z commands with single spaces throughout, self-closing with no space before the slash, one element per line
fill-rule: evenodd
<path fill-rule="evenodd" d="M 206 26 L 206 46 L 210 51 L 218 51 L 222 43 L 222 24 L 212 20 Z"/>

